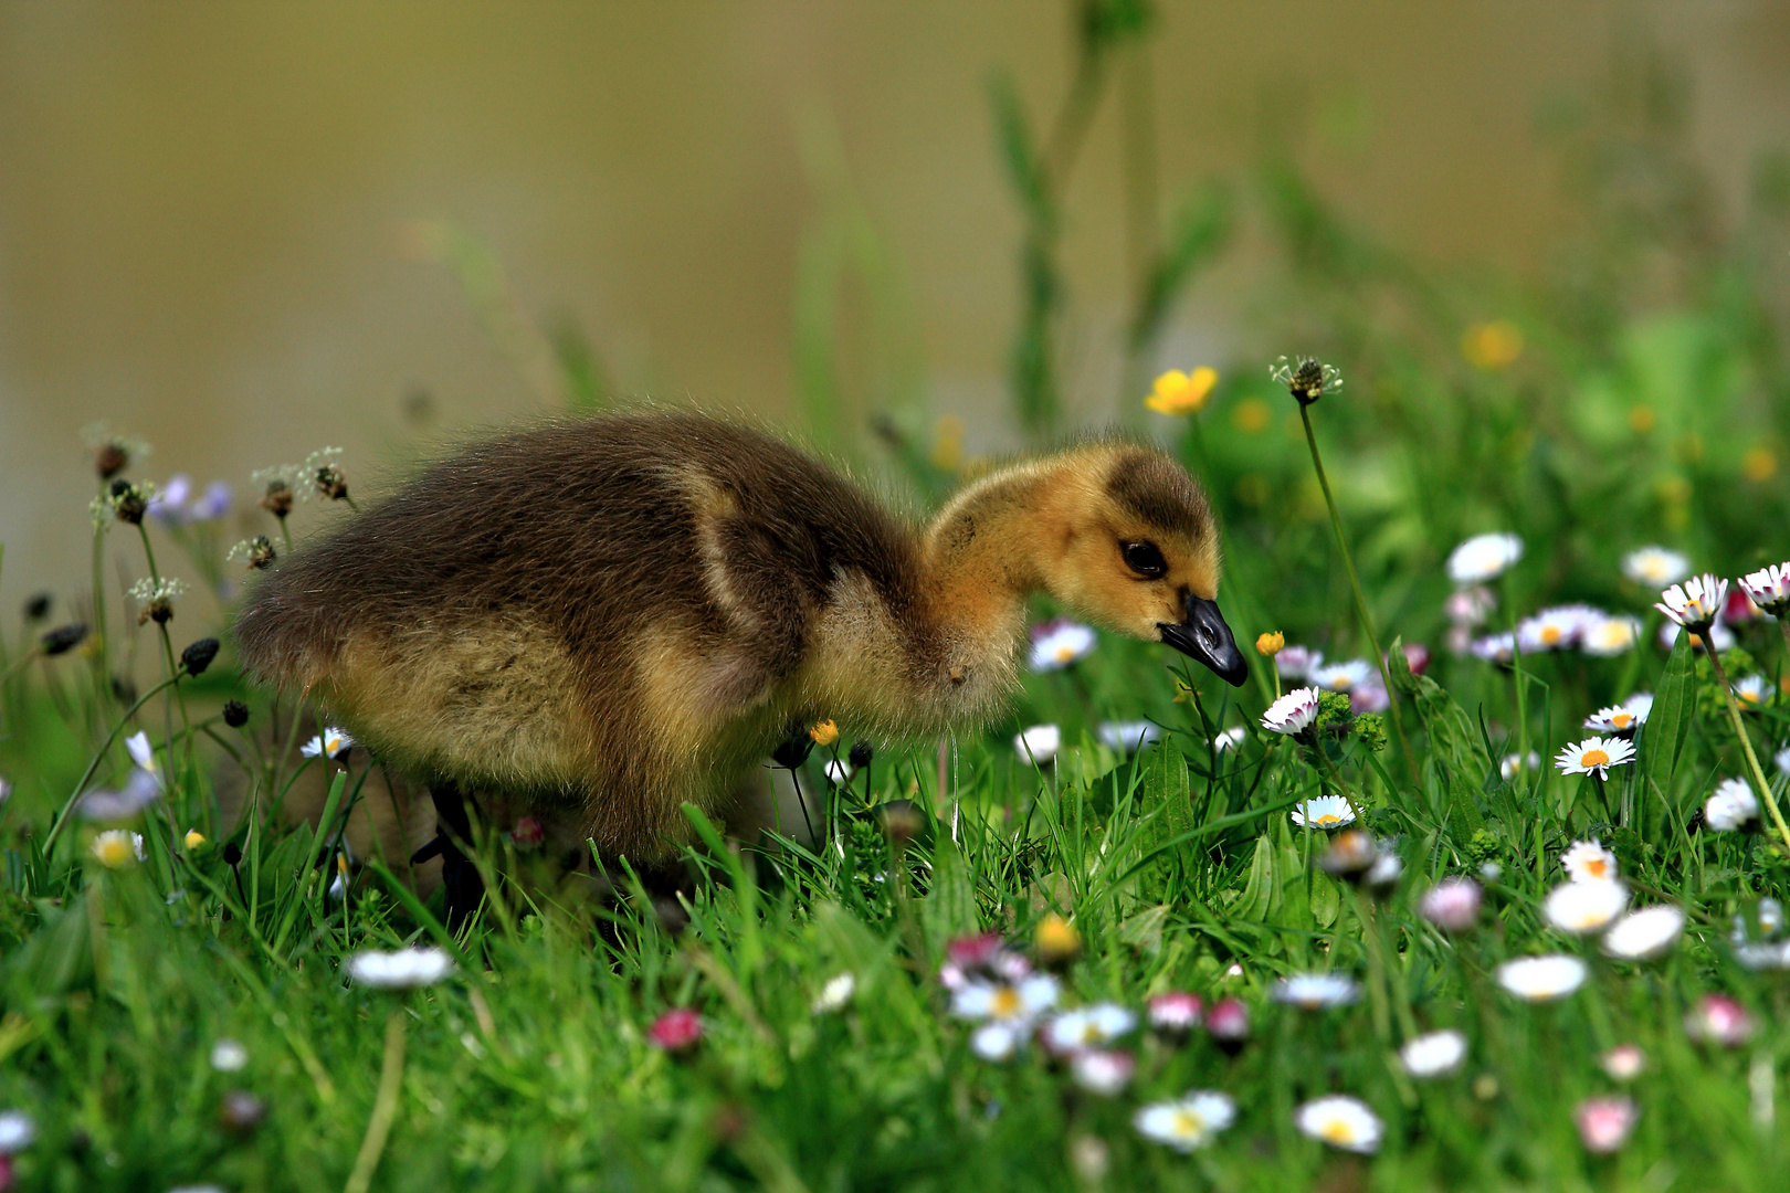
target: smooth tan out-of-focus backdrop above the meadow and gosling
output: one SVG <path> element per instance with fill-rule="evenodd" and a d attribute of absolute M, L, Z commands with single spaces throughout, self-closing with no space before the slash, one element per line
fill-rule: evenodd
<path fill-rule="evenodd" d="M 1164 4 L 1164 207 L 1303 106 L 1300 161 L 1346 213 L 1534 270 L 1564 218 L 1538 113 L 1638 36 L 1684 68 L 1735 200 L 1790 143 L 1781 2 Z M 1044 0 L 0 5 L 5 624 L 86 585 L 98 419 L 154 444 L 136 474 L 226 478 L 242 504 L 252 469 L 322 444 L 365 488 L 419 442 L 546 408 L 526 358 L 562 320 L 619 393 L 789 417 L 797 261 L 841 193 L 899 279 L 920 399 L 1004 442 L 1020 216 L 988 80 L 1010 72 L 1036 127 L 1072 55 Z M 1117 402 L 1117 157 L 1108 102 L 1067 197 L 1079 420 Z M 417 220 L 501 263 L 523 367 Z M 1260 258 L 1246 233 L 1160 363 L 1248 342 Z"/>

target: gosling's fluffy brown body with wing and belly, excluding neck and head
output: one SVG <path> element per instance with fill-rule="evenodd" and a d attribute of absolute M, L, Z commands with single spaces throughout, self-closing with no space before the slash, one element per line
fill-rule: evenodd
<path fill-rule="evenodd" d="M 281 560 L 236 633 L 424 782 L 576 801 L 639 857 L 786 728 L 843 572 L 922 631 L 913 533 L 868 494 L 748 427 L 618 415 L 430 467 Z"/>

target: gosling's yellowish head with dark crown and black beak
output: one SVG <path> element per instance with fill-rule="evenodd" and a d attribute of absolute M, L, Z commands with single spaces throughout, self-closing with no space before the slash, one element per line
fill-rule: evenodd
<path fill-rule="evenodd" d="M 1051 596 L 1240 687 L 1248 667 L 1217 606 L 1217 524 L 1187 469 L 1138 444 L 1076 449 L 1061 465 L 1044 517 Z"/>

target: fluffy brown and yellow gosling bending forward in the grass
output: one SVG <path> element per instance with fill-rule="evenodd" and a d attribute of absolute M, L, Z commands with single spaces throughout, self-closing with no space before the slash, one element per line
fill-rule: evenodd
<path fill-rule="evenodd" d="M 1167 454 L 1087 442 L 965 487 L 929 526 L 761 431 L 684 413 L 478 444 L 281 560 L 236 621 L 428 785 L 451 921 L 480 885 L 462 798 L 571 812 L 652 864 L 793 726 L 915 739 L 1017 689 L 1026 599 L 1164 642 L 1233 685 L 1219 537 Z"/>

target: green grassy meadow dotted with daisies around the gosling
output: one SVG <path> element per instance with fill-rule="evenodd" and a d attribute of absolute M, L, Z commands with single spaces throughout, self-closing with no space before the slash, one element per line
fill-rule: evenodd
<path fill-rule="evenodd" d="M 1076 111 L 1146 36 L 1108 9 L 1051 136 L 995 88 L 1038 442 Z M 1559 134 L 1586 220 L 1539 283 L 1412 261 L 1273 154 L 1164 220 L 1124 419 L 1212 494 L 1242 689 L 1040 608 L 1006 723 L 814 726 L 811 825 L 691 810 L 675 905 L 625 859 L 530 882 L 526 823 L 482 826 L 460 934 L 349 859 L 378 760 L 227 621 L 356 517 L 354 461 L 200 490 L 98 429 L 91 588 L 0 658 L 0 1189 L 1777 1188 L 1790 188 L 1711 213 L 1683 113 L 1616 95 Z M 1160 360 L 1240 227 L 1264 338 L 1323 363 Z M 918 406 L 841 426 L 798 347 L 822 449 L 915 506 L 981 467 Z"/>

